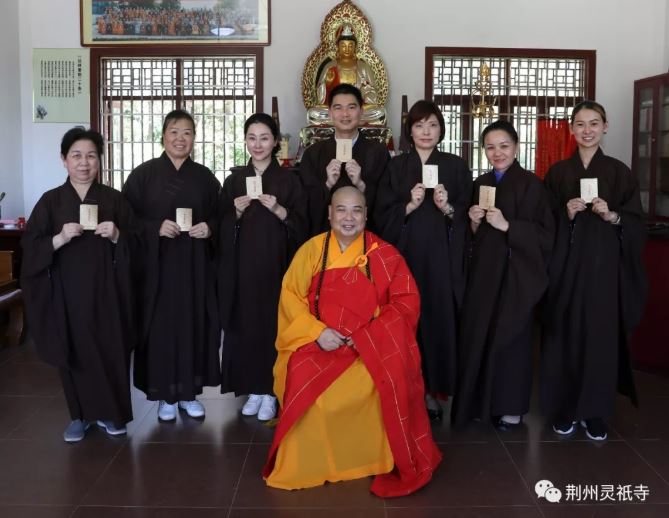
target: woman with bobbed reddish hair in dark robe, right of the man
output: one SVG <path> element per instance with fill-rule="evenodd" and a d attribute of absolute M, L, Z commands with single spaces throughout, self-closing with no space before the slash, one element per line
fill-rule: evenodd
<path fill-rule="evenodd" d="M 464 235 L 472 196 L 472 173 L 460 157 L 443 153 L 444 117 L 431 101 L 409 110 L 411 151 L 393 158 L 379 184 L 375 221 L 397 246 L 421 296 L 418 345 L 425 399 L 432 419 L 442 417 L 436 396 L 455 391 L 458 311 L 464 291 Z M 423 166 L 438 168 L 437 185 L 426 188 Z"/>

